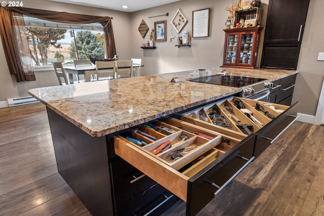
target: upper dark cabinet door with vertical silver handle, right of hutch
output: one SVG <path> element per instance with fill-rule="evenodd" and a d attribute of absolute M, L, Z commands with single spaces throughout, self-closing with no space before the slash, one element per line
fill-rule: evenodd
<path fill-rule="evenodd" d="M 264 43 L 301 42 L 309 0 L 270 0 Z"/>

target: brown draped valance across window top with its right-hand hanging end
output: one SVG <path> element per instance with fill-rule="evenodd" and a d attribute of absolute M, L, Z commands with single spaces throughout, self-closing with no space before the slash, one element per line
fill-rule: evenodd
<path fill-rule="evenodd" d="M 112 17 L 99 17 L 99 16 L 72 14 L 66 12 L 46 11 L 46 10 L 37 10 L 37 9 L 29 9 L 29 8 L 1 7 L 1 9 L 2 9 L 1 16 L 3 16 L 2 13 L 3 10 L 7 12 L 9 10 L 14 13 L 23 14 L 30 17 L 36 17 L 38 19 L 48 20 L 52 22 L 60 22 L 60 23 L 68 23 L 68 24 L 86 24 L 86 23 L 100 22 L 101 25 L 104 27 L 104 32 L 105 32 L 105 48 L 106 48 L 105 56 L 106 58 L 113 58 L 114 55 L 116 55 L 115 39 L 114 39 L 112 23 L 111 23 Z M 3 27 L 1 28 L 1 31 L 2 29 Z M 3 37 L 3 34 L 1 34 L 1 36 Z"/>

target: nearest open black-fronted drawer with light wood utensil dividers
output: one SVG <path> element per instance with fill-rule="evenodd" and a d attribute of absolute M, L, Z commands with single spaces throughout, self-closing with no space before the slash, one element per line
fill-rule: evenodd
<path fill-rule="evenodd" d="M 166 118 L 154 125 L 167 126 L 175 132 L 145 146 L 130 142 L 125 134 L 115 136 L 115 153 L 186 201 L 187 215 L 199 212 L 254 159 L 254 135 L 242 141 L 175 118 Z M 189 138 L 183 141 L 182 135 Z M 171 141 L 172 147 L 153 154 L 166 141 Z M 188 154 L 174 161 L 166 159 L 192 142 L 197 147 Z"/>

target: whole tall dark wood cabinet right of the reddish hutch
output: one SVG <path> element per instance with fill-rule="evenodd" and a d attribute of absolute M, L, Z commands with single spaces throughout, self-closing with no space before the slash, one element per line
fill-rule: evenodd
<path fill-rule="evenodd" d="M 297 68 L 309 0 L 270 0 L 261 68 Z"/>

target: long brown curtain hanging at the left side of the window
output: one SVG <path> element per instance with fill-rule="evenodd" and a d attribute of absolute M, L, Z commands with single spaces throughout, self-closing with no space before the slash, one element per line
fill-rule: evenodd
<path fill-rule="evenodd" d="M 36 80 L 22 15 L 0 8 L 0 34 L 10 74 L 17 82 Z"/>

